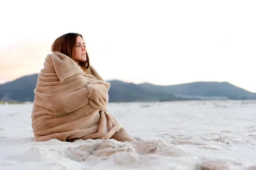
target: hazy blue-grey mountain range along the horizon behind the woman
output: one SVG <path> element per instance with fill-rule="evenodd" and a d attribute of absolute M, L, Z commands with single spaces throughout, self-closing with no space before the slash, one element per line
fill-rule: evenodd
<path fill-rule="evenodd" d="M 0 84 L 0 100 L 33 101 L 38 74 Z M 170 86 L 108 81 L 109 102 L 176 101 L 211 99 L 256 99 L 256 93 L 227 82 L 194 82 Z"/>

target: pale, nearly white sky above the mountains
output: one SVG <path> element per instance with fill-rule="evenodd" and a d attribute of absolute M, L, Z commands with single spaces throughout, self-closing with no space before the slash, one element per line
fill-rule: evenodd
<path fill-rule="evenodd" d="M 105 80 L 256 92 L 255 9 L 256 0 L 0 1 L 0 83 L 40 72 L 52 42 L 78 32 Z"/>

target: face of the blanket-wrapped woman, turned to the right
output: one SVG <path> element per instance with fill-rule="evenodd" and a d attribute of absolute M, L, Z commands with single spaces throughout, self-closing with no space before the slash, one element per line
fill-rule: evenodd
<path fill-rule="evenodd" d="M 86 61 L 86 48 L 81 36 L 76 37 L 75 56 L 77 62 Z"/>

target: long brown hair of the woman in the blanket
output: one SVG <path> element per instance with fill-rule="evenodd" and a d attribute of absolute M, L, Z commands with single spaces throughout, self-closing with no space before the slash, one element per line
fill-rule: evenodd
<path fill-rule="evenodd" d="M 74 58 L 75 55 L 75 46 L 76 46 L 76 38 L 80 36 L 83 39 L 83 36 L 78 33 L 67 33 L 58 37 L 52 43 L 52 52 L 60 52 L 68 57 L 72 58 L 73 61 L 76 61 Z M 78 65 L 83 69 L 85 72 L 88 73 L 87 69 L 90 66 L 89 55 L 86 50 L 86 61 L 79 61 Z"/>

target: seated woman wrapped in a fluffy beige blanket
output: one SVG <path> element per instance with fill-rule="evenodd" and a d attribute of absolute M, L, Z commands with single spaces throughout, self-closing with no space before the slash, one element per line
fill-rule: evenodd
<path fill-rule="evenodd" d="M 83 37 L 77 33 L 58 37 L 38 74 L 34 90 L 35 140 L 133 141 L 107 111 L 109 88 L 110 83 L 90 65 Z"/>

